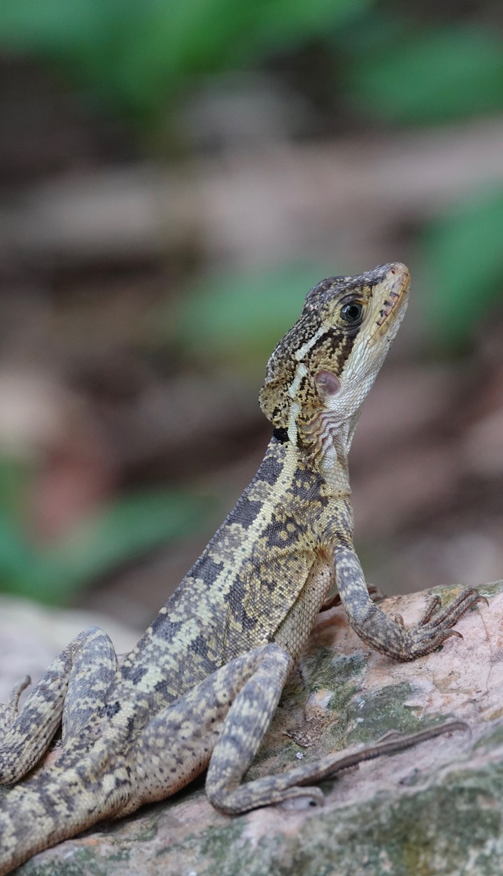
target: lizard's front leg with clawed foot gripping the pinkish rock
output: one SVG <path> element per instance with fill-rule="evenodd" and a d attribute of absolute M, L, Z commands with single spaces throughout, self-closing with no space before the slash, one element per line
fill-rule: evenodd
<path fill-rule="evenodd" d="M 486 602 L 478 590 L 467 587 L 452 602 L 440 608 L 433 597 L 416 626 L 406 627 L 402 617 L 390 618 L 368 595 L 365 576 L 353 544 L 339 541 L 334 549 L 335 577 L 347 619 L 360 639 L 399 661 L 415 660 L 442 645 L 449 636 L 460 636 L 452 629 L 458 618 L 472 605 Z"/>

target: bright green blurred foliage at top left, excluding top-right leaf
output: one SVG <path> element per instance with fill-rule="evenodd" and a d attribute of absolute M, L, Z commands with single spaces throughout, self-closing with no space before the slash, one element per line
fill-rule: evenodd
<path fill-rule="evenodd" d="M 0 46 L 64 68 L 100 102 L 163 127 L 201 75 L 322 39 L 368 0 L 0 0 Z"/>

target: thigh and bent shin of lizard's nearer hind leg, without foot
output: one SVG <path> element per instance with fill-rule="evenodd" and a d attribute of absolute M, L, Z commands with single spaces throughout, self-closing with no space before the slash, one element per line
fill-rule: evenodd
<path fill-rule="evenodd" d="M 292 668 L 290 654 L 276 644 L 229 661 L 159 711 L 131 752 L 136 794 L 118 816 L 143 803 L 164 800 L 207 767 L 210 800 L 239 784 L 255 756 Z M 213 752 L 213 753 L 212 753 Z"/>

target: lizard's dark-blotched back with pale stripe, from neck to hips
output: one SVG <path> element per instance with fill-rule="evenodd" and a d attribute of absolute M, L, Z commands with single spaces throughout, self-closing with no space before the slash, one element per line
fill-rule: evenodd
<path fill-rule="evenodd" d="M 155 676 L 166 695 L 179 696 L 244 651 L 274 640 L 322 554 L 317 517 L 330 502 L 318 471 L 273 437 L 233 511 L 124 661 L 122 679 L 139 682 L 142 654 L 149 687 Z M 332 584 L 325 565 L 305 637 Z M 292 656 L 298 649 L 290 646 Z"/>

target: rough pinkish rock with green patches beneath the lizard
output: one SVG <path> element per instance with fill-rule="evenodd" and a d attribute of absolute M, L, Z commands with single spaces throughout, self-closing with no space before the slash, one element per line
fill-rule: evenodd
<path fill-rule="evenodd" d="M 321 614 L 250 777 L 445 718 L 464 720 L 470 732 L 347 770 L 325 782 L 323 808 L 278 806 L 231 818 L 211 807 L 200 782 L 171 801 L 43 852 L 19 874 L 500 872 L 503 583 L 480 590 L 489 607 L 479 605 L 458 622 L 464 641 L 449 639 L 412 663 L 394 663 L 363 646 L 340 607 Z M 448 600 L 456 590 L 438 592 Z M 393 597 L 383 607 L 409 624 L 421 615 L 424 596 Z M 24 627 L 22 611 L 18 623 Z M 46 637 L 47 629 L 39 635 Z M 58 647 L 59 641 L 54 651 Z"/>

